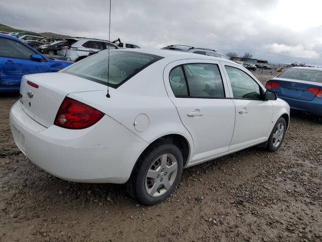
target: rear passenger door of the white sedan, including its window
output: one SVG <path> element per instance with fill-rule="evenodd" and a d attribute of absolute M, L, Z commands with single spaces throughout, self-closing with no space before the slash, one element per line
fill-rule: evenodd
<path fill-rule="evenodd" d="M 227 83 L 219 62 L 189 59 L 169 64 L 164 72 L 168 95 L 190 132 L 194 151 L 190 163 L 228 151 L 235 108 L 226 98 Z"/>

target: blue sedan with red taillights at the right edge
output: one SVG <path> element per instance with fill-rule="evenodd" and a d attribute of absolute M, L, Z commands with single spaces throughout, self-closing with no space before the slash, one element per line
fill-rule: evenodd
<path fill-rule="evenodd" d="M 293 67 L 266 83 L 292 109 L 317 116 L 322 123 L 322 69 Z"/>

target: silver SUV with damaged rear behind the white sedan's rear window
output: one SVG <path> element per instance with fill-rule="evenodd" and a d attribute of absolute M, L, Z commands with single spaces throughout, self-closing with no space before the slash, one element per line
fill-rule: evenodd
<path fill-rule="evenodd" d="M 88 57 L 91 51 L 118 48 L 117 45 L 107 40 L 88 38 L 69 38 L 66 40 L 66 44 L 58 50 L 58 55 L 68 57 L 71 62 L 81 61 L 81 59 Z"/>

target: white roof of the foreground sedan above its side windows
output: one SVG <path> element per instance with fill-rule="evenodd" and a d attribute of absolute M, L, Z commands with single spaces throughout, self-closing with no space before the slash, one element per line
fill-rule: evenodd
<path fill-rule="evenodd" d="M 107 50 L 103 50 L 107 51 Z M 120 51 L 120 50 L 116 50 Z M 154 54 L 162 57 L 173 57 L 177 59 L 213 59 L 214 61 L 224 61 L 228 62 L 231 64 L 235 64 L 232 61 L 229 61 L 228 59 L 223 59 L 219 57 L 214 57 L 214 56 L 209 56 L 209 55 L 202 55 L 202 54 L 195 54 L 191 52 L 183 52 L 183 51 L 173 51 L 173 50 L 168 50 L 168 49 L 147 49 L 147 48 L 139 48 L 139 49 L 131 49 L 131 48 L 126 48 L 122 49 L 122 51 L 133 51 L 133 52 L 141 52 L 141 53 L 147 53 L 147 54 Z"/>

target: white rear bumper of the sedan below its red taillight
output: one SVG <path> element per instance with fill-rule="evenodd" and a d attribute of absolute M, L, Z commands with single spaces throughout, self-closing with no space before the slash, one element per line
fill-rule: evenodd
<path fill-rule="evenodd" d="M 83 130 L 45 128 L 22 110 L 20 101 L 11 108 L 10 128 L 16 145 L 34 164 L 85 183 L 126 183 L 148 145 L 108 115 Z"/>

